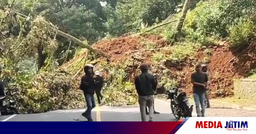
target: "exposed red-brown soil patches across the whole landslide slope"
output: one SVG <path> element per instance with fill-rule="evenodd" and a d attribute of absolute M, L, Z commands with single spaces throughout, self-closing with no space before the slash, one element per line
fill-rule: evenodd
<path fill-rule="evenodd" d="M 156 35 L 144 34 L 127 35 L 112 40 L 103 40 L 94 47 L 101 49 L 112 55 L 112 62 L 125 61 L 132 58 L 137 64 L 127 69 L 129 79 L 133 80 L 139 74 L 138 66 L 140 63 L 153 65 L 151 57 L 154 51 L 141 51 L 145 49 L 143 41 L 151 41 L 155 48 L 161 48 L 167 43 Z M 210 72 L 210 97 L 226 97 L 233 95 L 233 79 L 246 77 L 246 74 L 256 67 L 256 41 L 252 42 L 242 52 L 232 52 L 228 43 L 222 43 L 210 48 L 209 72 Z M 139 50 L 139 51 L 138 51 Z M 154 65 L 150 68 L 153 73 L 161 74 L 162 70 L 168 68 L 172 72 L 170 78 L 178 80 L 179 84 L 188 93 L 192 94 L 191 73 L 194 71 L 194 64 L 200 62 L 206 57 L 204 50 L 199 50 L 195 59 L 187 59 L 185 63 L 179 65 L 170 65 L 168 61 L 164 66 Z"/>

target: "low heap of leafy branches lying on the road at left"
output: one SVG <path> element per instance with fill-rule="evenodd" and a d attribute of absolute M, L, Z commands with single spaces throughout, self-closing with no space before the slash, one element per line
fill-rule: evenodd
<path fill-rule="evenodd" d="M 4 75 L 7 71 L 2 69 Z M 7 94 L 4 106 L 13 110 L 10 112 L 38 113 L 85 106 L 73 75 L 64 70 L 41 71 L 36 76 L 10 74 L 9 82 L 6 76 L 2 78 L 6 82 Z"/>

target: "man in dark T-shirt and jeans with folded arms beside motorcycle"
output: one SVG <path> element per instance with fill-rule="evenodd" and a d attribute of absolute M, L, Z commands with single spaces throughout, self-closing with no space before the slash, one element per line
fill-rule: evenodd
<path fill-rule="evenodd" d="M 206 91 L 207 81 L 207 74 L 202 72 L 202 66 L 200 63 L 198 63 L 196 65 L 196 72 L 191 74 L 191 82 L 193 83 L 193 96 L 196 104 L 197 117 L 204 117 L 204 95 Z M 200 104 L 202 111 L 200 111 Z"/>

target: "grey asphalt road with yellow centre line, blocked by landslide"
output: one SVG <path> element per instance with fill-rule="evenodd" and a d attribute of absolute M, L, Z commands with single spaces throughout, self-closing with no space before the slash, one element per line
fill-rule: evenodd
<path fill-rule="evenodd" d="M 176 120 L 172 115 L 170 103 L 168 102 L 155 99 L 155 110 L 160 114 L 154 114 L 154 121 Z M 86 118 L 81 116 L 84 111 L 85 109 L 73 109 L 8 115 L 1 116 L 0 121 L 74 121 L 77 118 L 80 118 L 81 121 L 86 121 Z M 193 110 L 192 116 L 195 116 L 195 110 Z M 123 107 L 97 106 L 92 110 L 92 119 L 94 121 L 141 121 L 138 105 Z"/>

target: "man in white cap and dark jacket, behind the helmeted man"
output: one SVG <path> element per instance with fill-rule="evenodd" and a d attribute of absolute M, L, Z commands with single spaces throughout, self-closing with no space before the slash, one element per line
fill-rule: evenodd
<path fill-rule="evenodd" d="M 96 95 L 97 95 L 97 99 L 98 99 L 98 104 L 101 104 L 101 100 L 102 100 L 102 94 L 101 94 L 101 89 L 103 87 L 103 83 L 104 83 L 104 80 L 103 80 L 103 77 L 101 77 L 100 75 L 100 71 L 95 71 L 95 75 L 96 77 L 94 78 L 95 79 L 95 92 L 96 92 Z"/>

